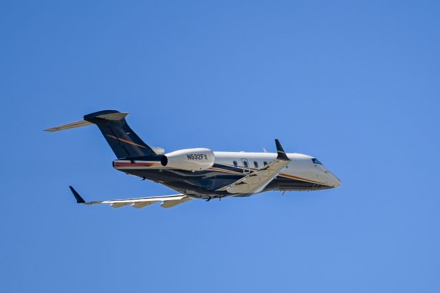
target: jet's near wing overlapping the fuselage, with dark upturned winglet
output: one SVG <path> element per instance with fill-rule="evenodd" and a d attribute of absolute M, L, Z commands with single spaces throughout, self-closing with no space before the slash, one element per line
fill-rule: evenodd
<path fill-rule="evenodd" d="M 259 193 L 270 184 L 276 176 L 278 176 L 285 166 L 289 164 L 290 159 L 287 158 L 283 147 L 278 140 L 275 140 L 276 151 L 278 153 L 276 159 L 266 166 L 246 175 L 245 177 L 237 180 L 236 182 L 217 189 L 217 191 L 228 191 L 228 193 Z"/>

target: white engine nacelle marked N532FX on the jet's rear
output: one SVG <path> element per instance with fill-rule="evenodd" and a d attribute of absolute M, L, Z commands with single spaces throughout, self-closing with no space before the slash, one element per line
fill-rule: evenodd
<path fill-rule="evenodd" d="M 186 171 L 206 170 L 214 164 L 214 152 L 210 149 L 181 149 L 162 155 L 160 163 L 162 166 Z"/>

